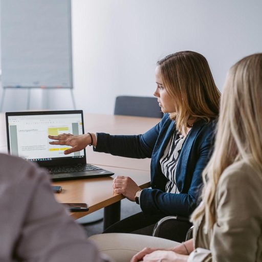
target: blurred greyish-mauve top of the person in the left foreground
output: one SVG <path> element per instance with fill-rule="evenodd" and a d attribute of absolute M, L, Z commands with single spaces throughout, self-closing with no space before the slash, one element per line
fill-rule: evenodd
<path fill-rule="evenodd" d="M 33 163 L 0 154 L 0 210 L 1 262 L 106 261 Z"/>

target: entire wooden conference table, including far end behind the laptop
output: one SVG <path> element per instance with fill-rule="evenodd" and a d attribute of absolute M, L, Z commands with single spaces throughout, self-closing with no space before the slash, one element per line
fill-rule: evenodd
<path fill-rule="evenodd" d="M 110 133 L 112 135 L 136 135 L 156 125 L 159 118 L 84 114 L 84 131 Z M 0 152 L 7 151 L 5 116 L 0 114 Z M 5 132 L 3 131 L 5 130 Z M 93 151 L 86 148 L 87 162 L 113 171 L 112 177 L 55 182 L 62 192 L 55 194 L 61 203 L 88 203 L 88 212 L 72 213 L 75 219 L 105 207 L 104 227 L 120 219 L 120 200 L 123 195 L 113 191 L 112 182 L 116 176 L 129 176 L 141 188 L 150 186 L 150 159 L 129 159 Z M 113 214 L 113 215 L 112 215 Z"/>

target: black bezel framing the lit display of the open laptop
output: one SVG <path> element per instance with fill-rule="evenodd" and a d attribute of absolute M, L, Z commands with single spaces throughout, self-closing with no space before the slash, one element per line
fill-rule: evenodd
<path fill-rule="evenodd" d="M 83 122 L 83 111 L 82 110 L 67 110 L 67 111 L 34 111 L 34 112 L 6 112 L 6 130 L 7 130 L 7 149 L 8 154 L 10 154 L 10 139 L 9 139 L 9 116 L 42 116 L 42 115 L 66 115 L 66 114 L 81 114 L 82 119 L 82 130 L 84 134 L 84 122 Z M 34 161 L 39 166 L 48 167 L 48 166 L 59 166 L 59 165 L 75 165 L 75 164 L 85 164 L 86 163 L 86 154 L 84 150 L 83 158 L 72 158 L 65 157 L 62 159 L 52 159 L 51 161 Z"/>

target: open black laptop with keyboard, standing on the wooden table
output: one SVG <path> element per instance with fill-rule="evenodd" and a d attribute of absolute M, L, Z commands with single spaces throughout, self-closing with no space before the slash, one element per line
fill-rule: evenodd
<path fill-rule="evenodd" d="M 11 155 L 49 169 L 53 181 L 112 176 L 112 172 L 86 164 L 85 149 L 64 155 L 70 146 L 50 145 L 48 135 L 84 134 L 83 111 L 6 113 L 7 144 Z"/>

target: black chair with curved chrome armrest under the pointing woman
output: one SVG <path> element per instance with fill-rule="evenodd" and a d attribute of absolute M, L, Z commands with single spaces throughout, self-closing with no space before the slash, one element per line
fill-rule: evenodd
<path fill-rule="evenodd" d="M 165 226 L 169 226 L 171 227 L 172 224 L 174 224 L 174 221 L 179 221 L 179 222 L 185 222 L 181 225 L 180 230 L 184 233 L 186 233 L 185 238 L 173 238 L 173 235 L 176 235 L 176 232 L 173 232 L 172 230 L 170 230 L 170 235 L 164 233 L 161 231 L 161 229 Z M 166 232 L 166 231 L 165 231 Z M 181 232 L 180 232 L 181 233 Z M 188 217 L 183 217 L 183 216 L 178 216 L 178 215 L 170 215 L 170 216 L 165 216 L 163 217 L 163 219 L 161 219 L 155 226 L 154 231 L 152 233 L 152 236 L 156 236 L 156 237 L 161 237 L 161 238 L 166 238 L 166 239 L 170 239 L 173 241 L 177 241 L 177 242 L 184 242 L 184 241 L 188 241 L 190 238 L 193 237 L 193 225 L 192 223 L 188 220 Z"/>

